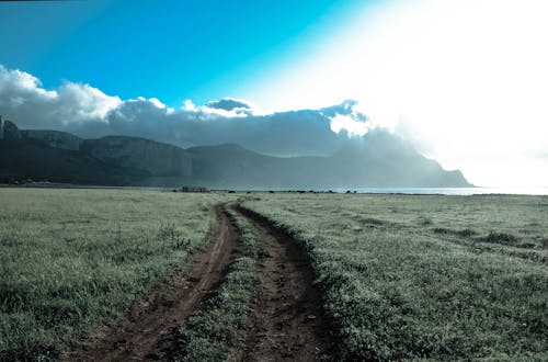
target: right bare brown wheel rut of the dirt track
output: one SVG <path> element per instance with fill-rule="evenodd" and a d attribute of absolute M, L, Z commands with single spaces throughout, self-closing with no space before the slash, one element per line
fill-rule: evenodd
<path fill-rule="evenodd" d="M 228 361 L 328 359 L 329 331 L 313 271 L 297 242 L 261 215 L 237 208 L 267 242 L 269 256 L 243 341 Z"/>

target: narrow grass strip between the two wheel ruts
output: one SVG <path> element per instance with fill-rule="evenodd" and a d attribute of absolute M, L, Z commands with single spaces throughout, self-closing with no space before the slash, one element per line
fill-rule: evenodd
<path fill-rule="evenodd" d="M 176 361 L 225 361 L 240 339 L 260 281 L 259 258 L 265 252 L 265 245 L 246 218 L 233 211 L 230 217 L 241 233 L 239 257 L 218 294 L 176 330 L 168 347 Z"/>

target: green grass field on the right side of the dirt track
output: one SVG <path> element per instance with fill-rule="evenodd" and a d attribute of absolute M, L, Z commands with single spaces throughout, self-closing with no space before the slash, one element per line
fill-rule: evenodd
<path fill-rule="evenodd" d="M 262 194 L 341 360 L 548 360 L 548 197 Z"/>

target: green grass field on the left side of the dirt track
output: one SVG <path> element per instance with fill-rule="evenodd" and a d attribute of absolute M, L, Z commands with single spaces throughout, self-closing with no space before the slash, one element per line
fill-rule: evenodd
<path fill-rule="evenodd" d="M 217 194 L 0 189 L 0 360 L 47 360 L 212 240 Z"/>

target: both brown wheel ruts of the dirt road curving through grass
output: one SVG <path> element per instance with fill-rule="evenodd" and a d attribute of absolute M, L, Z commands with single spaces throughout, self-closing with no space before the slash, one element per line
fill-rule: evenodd
<path fill-rule="evenodd" d="M 313 272 L 297 242 L 263 216 L 237 207 L 267 244 L 261 285 L 243 338 L 228 361 L 318 361 L 330 350 L 321 295 Z M 215 244 L 189 267 L 180 268 L 153 293 L 142 297 L 114 326 L 96 331 L 89 342 L 66 352 L 61 361 L 149 361 L 159 343 L 215 293 L 235 258 L 238 231 L 222 206 L 216 207 Z"/>

